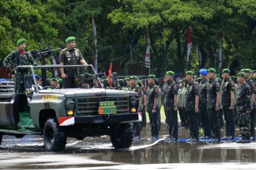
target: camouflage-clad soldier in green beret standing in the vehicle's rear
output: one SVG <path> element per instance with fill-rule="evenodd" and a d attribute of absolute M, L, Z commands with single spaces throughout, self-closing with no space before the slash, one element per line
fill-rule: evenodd
<path fill-rule="evenodd" d="M 32 63 L 34 66 L 37 66 L 37 63 L 35 62 L 34 58 L 29 52 L 25 51 L 26 48 L 26 41 L 25 39 L 19 39 L 16 43 L 17 50 L 14 52 L 11 52 L 9 55 L 7 55 L 4 58 L 4 66 L 7 68 L 7 72 L 15 73 L 15 70 L 12 70 L 10 67 L 13 67 L 13 69 L 16 69 L 18 66 L 27 66 L 29 65 L 29 62 Z M 18 82 L 17 82 L 17 91 L 19 93 L 24 92 L 24 76 L 29 74 L 29 70 L 27 69 L 19 69 L 18 71 Z M 17 76 L 17 75 L 16 75 Z"/>

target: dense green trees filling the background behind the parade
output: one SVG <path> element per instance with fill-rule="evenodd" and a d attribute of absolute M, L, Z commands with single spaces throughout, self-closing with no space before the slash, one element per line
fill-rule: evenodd
<path fill-rule="evenodd" d="M 130 73 L 130 47 L 126 44 L 133 44 L 140 46 L 133 49 L 138 54 L 133 63 L 147 74 L 143 65 L 147 27 L 151 35 L 151 72 L 158 76 L 165 72 L 165 55 L 166 69 L 187 69 L 189 26 L 193 29 L 191 68 L 218 67 L 219 44 L 223 67 L 255 67 L 255 0 L 0 1 L 1 60 L 16 48 L 19 38 L 27 39 L 27 50 L 35 50 L 38 42 L 64 48 L 66 37 L 76 36 L 77 47 L 93 63 L 92 16 L 97 29 L 99 71 L 107 70 L 112 62 L 122 68 L 119 72 Z M 200 66 L 196 45 L 202 56 Z"/>

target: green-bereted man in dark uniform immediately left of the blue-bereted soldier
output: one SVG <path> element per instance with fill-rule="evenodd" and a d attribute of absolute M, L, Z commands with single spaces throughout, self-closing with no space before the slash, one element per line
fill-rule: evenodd
<path fill-rule="evenodd" d="M 187 88 L 186 88 L 186 104 L 185 111 L 188 114 L 190 120 L 190 139 L 187 141 L 196 142 L 199 141 L 199 124 L 198 124 L 198 84 L 193 81 L 194 72 L 186 72 Z"/>

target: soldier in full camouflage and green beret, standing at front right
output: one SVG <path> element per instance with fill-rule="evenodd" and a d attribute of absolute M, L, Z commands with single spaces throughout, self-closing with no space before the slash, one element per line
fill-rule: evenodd
<path fill-rule="evenodd" d="M 236 93 L 236 111 L 238 114 L 240 133 L 242 136 L 241 140 L 236 141 L 237 143 L 249 143 L 250 139 L 250 129 L 251 129 L 251 87 L 246 83 L 245 77 L 246 73 L 240 72 L 237 75 L 238 90 Z"/>

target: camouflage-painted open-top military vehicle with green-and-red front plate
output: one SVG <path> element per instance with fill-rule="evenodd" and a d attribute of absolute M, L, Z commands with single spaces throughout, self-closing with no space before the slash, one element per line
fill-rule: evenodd
<path fill-rule="evenodd" d="M 101 88 L 40 89 L 34 69 L 53 69 L 81 66 L 19 66 L 30 69 L 24 78 L 26 94 L 18 94 L 13 81 L 0 82 L 0 144 L 2 135 L 43 135 L 48 151 L 65 149 L 67 137 L 110 135 L 114 148 L 129 148 L 133 141 L 138 114 L 138 94 Z M 93 66 L 89 66 L 94 71 Z M 99 78 L 94 75 L 87 76 Z M 43 80 L 46 81 L 46 80 Z M 30 124 L 22 123 L 21 113 L 28 113 Z"/>

